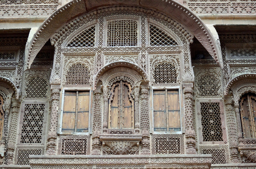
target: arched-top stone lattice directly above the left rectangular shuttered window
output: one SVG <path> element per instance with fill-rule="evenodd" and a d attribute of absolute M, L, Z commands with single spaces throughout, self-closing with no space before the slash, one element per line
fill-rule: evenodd
<path fill-rule="evenodd" d="M 73 64 L 67 71 L 66 85 L 89 85 L 90 77 L 90 71 L 86 65 Z"/>

